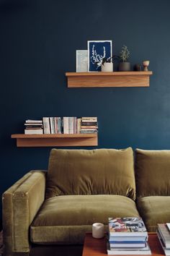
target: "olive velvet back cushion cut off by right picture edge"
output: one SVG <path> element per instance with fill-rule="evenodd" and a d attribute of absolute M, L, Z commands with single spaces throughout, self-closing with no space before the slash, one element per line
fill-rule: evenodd
<path fill-rule="evenodd" d="M 170 150 L 135 150 L 138 197 L 170 195 Z"/>

